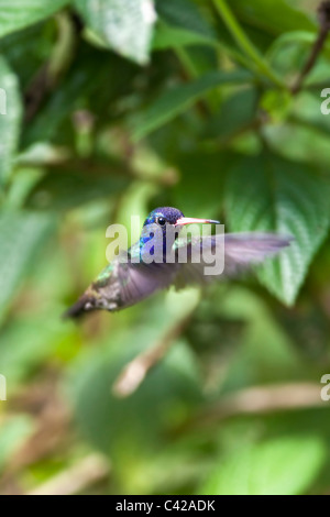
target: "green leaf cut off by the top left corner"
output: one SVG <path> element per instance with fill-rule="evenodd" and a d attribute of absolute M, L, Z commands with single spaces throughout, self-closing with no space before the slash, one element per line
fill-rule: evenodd
<path fill-rule="evenodd" d="M 0 37 L 51 16 L 70 0 L 0 0 Z"/>

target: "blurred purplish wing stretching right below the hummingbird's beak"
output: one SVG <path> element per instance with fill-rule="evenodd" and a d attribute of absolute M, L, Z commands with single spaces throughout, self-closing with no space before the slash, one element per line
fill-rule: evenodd
<path fill-rule="evenodd" d="M 293 240 L 287 235 L 258 232 L 207 235 L 188 241 L 178 239 L 175 245 L 177 249 L 186 249 L 187 263 L 179 264 L 175 285 L 182 288 L 189 284 L 206 284 L 213 279 L 235 277 L 251 266 L 263 263 L 267 257 L 275 256 Z M 206 267 L 210 264 L 205 262 L 204 255 L 215 254 L 217 246 L 218 253 L 223 253 L 223 268 L 219 274 L 206 274 Z M 191 262 L 194 252 L 200 253 L 200 262 Z"/>

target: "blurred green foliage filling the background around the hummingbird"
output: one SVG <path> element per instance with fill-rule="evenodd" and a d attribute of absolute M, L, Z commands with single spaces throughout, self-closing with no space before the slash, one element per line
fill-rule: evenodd
<path fill-rule="evenodd" d="M 97 6 L 0 0 L 0 491 L 69 472 L 67 493 L 328 493 L 330 40 L 301 80 L 317 2 Z M 64 322 L 107 227 L 167 205 L 296 241 L 207 293 Z"/>

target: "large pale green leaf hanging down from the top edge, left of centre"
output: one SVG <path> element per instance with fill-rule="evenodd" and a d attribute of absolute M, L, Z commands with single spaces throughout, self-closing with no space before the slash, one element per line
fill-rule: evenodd
<path fill-rule="evenodd" d="M 148 62 L 156 13 L 152 0 L 76 0 L 87 26 L 109 48 L 144 65 Z"/>

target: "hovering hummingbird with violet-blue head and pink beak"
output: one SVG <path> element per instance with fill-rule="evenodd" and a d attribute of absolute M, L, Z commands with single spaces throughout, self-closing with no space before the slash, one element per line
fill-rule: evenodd
<path fill-rule="evenodd" d="M 276 255 L 293 241 L 288 235 L 263 232 L 190 235 L 180 239 L 182 229 L 191 223 L 219 224 L 219 221 L 187 218 L 173 207 L 154 209 L 144 221 L 140 240 L 128 251 L 121 251 L 64 316 L 77 318 L 98 309 L 118 311 L 170 285 L 183 288 L 206 284 L 220 276 L 237 277 L 253 264 L 263 263 L 265 258 Z M 152 255 L 155 248 L 151 246 L 155 233 L 158 241 L 161 239 L 161 257 L 157 261 L 146 261 L 146 254 Z M 194 262 L 194 252 L 212 252 L 219 239 L 223 239 L 223 271 L 219 275 L 205 275 L 206 264 L 202 258 Z M 172 252 L 169 261 L 168 250 Z M 186 252 L 185 263 L 177 260 L 179 250 Z"/>

